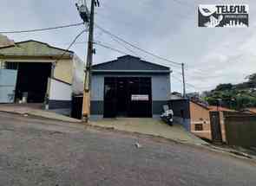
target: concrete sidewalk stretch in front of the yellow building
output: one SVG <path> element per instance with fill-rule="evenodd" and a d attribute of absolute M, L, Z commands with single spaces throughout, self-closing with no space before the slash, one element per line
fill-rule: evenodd
<path fill-rule="evenodd" d="M 79 123 L 81 120 L 78 119 L 72 119 L 67 116 L 63 116 L 61 114 L 57 114 L 55 112 L 49 112 L 45 111 L 43 109 L 35 108 L 36 106 L 33 105 L 0 105 L 0 112 L 10 112 L 10 113 L 16 113 L 21 115 L 31 115 L 36 116 L 40 118 L 45 119 L 54 119 L 54 120 L 60 120 L 64 122 L 70 122 L 70 123 Z"/>

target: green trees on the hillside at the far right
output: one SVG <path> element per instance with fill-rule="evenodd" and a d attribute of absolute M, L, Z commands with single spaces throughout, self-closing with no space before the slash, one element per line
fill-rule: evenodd
<path fill-rule="evenodd" d="M 221 106 L 234 110 L 241 110 L 246 107 L 256 107 L 256 74 L 246 77 L 247 82 L 238 85 L 220 84 L 213 91 L 207 94 L 205 100 L 209 105 Z M 219 101 L 221 99 L 221 101 Z"/>

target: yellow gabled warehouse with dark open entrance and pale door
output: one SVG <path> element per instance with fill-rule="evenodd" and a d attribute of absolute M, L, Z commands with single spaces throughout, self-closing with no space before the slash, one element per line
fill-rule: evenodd
<path fill-rule="evenodd" d="M 82 93 L 83 62 L 72 51 L 44 42 L 12 42 L 0 48 L 0 103 L 42 104 L 70 114 Z"/>

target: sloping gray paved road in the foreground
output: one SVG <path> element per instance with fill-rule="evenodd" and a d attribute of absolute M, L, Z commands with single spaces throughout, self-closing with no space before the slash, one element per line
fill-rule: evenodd
<path fill-rule="evenodd" d="M 160 139 L 0 112 L 0 185 L 253 186 L 256 167 Z"/>

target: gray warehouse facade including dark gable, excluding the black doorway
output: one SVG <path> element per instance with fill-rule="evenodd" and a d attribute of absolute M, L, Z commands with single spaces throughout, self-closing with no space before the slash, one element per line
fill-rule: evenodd
<path fill-rule="evenodd" d="M 152 82 L 152 113 L 160 117 L 162 106 L 170 93 L 170 69 L 130 55 L 93 67 L 91 89 L 91 118 L 99 119 L 104 113 L 104 79 L 106 77 L 148 77 Z"/>

